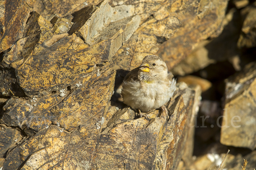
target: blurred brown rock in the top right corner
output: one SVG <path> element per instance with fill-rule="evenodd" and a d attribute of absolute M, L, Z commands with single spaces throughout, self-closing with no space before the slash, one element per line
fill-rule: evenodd
<path fill-rule="evenodd" d="M 239 48 L 252 48 L 256 46 L 256 3 L 247 6 L 241 11 L 241 15 L 245 17 L 243 27 L 237 46 Z"/>

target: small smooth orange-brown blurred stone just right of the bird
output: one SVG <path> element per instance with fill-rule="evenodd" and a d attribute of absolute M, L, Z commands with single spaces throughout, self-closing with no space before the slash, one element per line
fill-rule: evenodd
<path fill-rule="evenodd" d="M 202 92 L 207 91 L 212 86 L 212 83 L 208 80 L 192 75 L 178 77 L 177 82 L 186 82 L 187 85 L 200 85 Z"/>

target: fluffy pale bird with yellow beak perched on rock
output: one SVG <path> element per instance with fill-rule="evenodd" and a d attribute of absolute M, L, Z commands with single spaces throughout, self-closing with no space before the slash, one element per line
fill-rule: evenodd
<path fill-rule="evenodd" d="M 176 80 L 168 73 L 166 63 L 158 56 L 146 56 L 142 64 L 130 71 L 122 82 L 123 102 L 141 111 L 148 112 L 161 108 L 166 114 L 164 104 L 169 101 L 176 90 Z"/>

